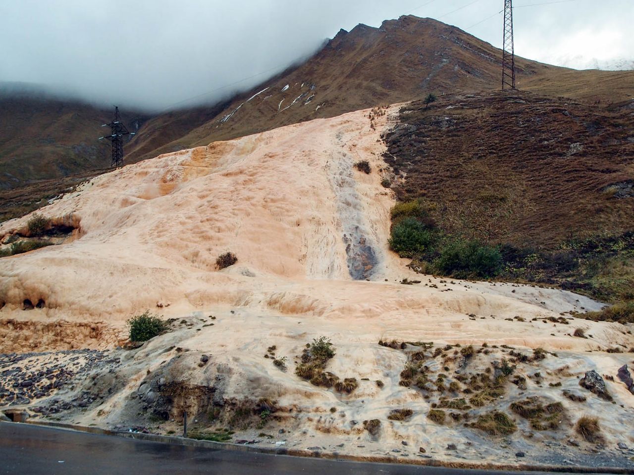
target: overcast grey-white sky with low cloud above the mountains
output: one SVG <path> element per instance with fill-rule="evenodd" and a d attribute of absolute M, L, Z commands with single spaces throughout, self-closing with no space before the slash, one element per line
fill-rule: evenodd
<path fill-rule="evenodd" d="M 634 0 L 514 7 L 521 56 L 576 68 L 634 60 Z M 500 47 L 502 8 L 503 0 L 0 0 L 0 81 L 52 85 L 104 105 L 191 106 L 256 85 L 339 28 L 404 14 Z"/>

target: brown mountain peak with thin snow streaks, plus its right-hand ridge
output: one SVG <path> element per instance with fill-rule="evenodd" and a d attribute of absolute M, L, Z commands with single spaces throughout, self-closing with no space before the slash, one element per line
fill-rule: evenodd
<path fill-rule="evenodd" d="M 420 99 L 429 92 L 495 91 L 500 58 L 500 49 L 430 18 L 401 16 L 379 28 L 358 25 L 351 32 L 340 30 L 306 63 L 240 94 L 214 120 L 152 153 Z M 602 103 L 634 96 L 634 72 L 568 70 L 523 58 L 515 64 L 521 89 Z M 152 156 L 133 144 L 129 153 L 131 160 Z"/>

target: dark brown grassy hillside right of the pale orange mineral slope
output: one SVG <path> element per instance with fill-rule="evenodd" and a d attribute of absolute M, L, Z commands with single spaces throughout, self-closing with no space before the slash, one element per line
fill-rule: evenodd
<path fill-rule="evenodd" d="M 505 277 L 634 298 L 633 129 L 634 101 L 451 95 L 404 107 L 385 160 L 444 232 L 505 244 Z"/>

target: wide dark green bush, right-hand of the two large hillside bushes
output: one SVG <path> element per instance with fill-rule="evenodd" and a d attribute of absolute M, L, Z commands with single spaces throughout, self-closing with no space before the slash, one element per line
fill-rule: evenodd
<path fill-rule="evenodd" d="M 434 262 L 442 274 L 465 277 L 494 277 L 502 267 L 500 251 L 478 241 L 456 239 L 441 248 Z"/>

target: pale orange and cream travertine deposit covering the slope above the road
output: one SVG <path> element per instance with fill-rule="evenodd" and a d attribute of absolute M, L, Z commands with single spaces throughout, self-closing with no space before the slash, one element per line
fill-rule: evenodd
<path fill-rule="evenodd" d="M 178 431 L 185 409 L 195 430 L 231 428 L 234 440 L 408 460 L 495 462 L 525 452 L 543 463 L 587 463 L 597 449 L 574 422 L 589 414 L 603 429 L 597 457 L 631 464 L 631 453 L 616 447 L 634 445 L 634 396 L 619 379 L 605 381 L 615 403 L 579 386 L 585 372 L 616 376 L 631 364 L 631 328 L 571 317 L 602 307 L 583 296 L 420 276 L 389 251 L 394 198 L 380 183 L 398 177 L 382 160 L 380 134 L 394 111 L 375 127 L 368 110 L 356 111 L 161 155 L 43 208 L 52 224 L 74 231 L 63 244 L 0 260 L 0 352 L 32 352 L 0 361 L 9 381 L 0 406 L 160 433 Z M 372 173 L 356 170 L 359 160 Z M 0 242 L 28 234 L 29 218 L 1 225 Z M 238 262 L 216 269 L 227 251 Z M 170 331 L 138 349 L 117 348 L 126 319 L 148 309 L 174 319 Z M 574 337 L 576 328 L 592 338 Z M 306 344 L 320 336 L 335 348 L 326 371 L 355 379 L 351 392 L 295 374 Z M 463 354 L 469 345 L 473 353 Z M 37 372 L 57 374 L 74 353 L 55 350 L 81 348 L 103 353 L 58 388 Z M 22 386 L 27 365 L 34 376 Z M 404 370 L 433 387 L 403 383 Z M 490 381 L 472 377 L 495 378 L 498 392 L 484 398 Z M 25 389 L 34 384 L 51 391 Z M 470 402 L 476 395 L 486 402 Z M 562 404 L 557 428 L 534 429 L 509 409 L 531 397 Z M 429 418 L 443 407 L 446 422 Z M 388 419 L 397 409 L 413 414 Z M 470 425 L 492 410 L 513 417 L 517 431 Z"/>

